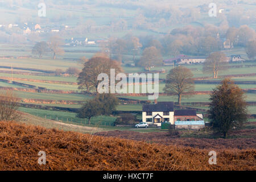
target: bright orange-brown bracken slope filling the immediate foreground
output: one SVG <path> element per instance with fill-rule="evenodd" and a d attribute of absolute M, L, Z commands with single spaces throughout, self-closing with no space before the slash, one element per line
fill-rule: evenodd
<path fill-rule="evenodd" d="M 38 152 L 46 152 L 46 165 Z M 217 151 L 148 144 L 0 122 L 0 170 L 255 170 L 255 148 Z"/>

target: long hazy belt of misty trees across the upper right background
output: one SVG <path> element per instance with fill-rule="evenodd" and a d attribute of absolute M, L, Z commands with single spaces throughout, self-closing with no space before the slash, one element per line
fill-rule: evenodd
<path fill-rule="evenodd" d="M 223 48 L 223 40 L 218 27 L 209 25 L 205 27 L 187 26 L 176 28 L 162 38 L 155 36 L 136 37 L 127 34 L 123 38 L 110 38 L 101 44 L 101 52 L 122 61 L 123 55 L 132 54 L 137 65 L 150 68 L 152 65 L 162 64 L 162 55 L 175 57 L 184 55 L 210 55 L 211 52 Z M 255 57 L 255 31 L 248 26 L 228 28 L 225 35 L 230 46 L 243 46 L 249 59 Z M 135 56 L 142 55 L 135 60 Z M 114 57 L 115 56 L 115 57 Z M 148 60 L 148 61 L 147 61 Z"/>

